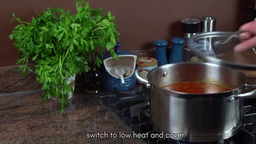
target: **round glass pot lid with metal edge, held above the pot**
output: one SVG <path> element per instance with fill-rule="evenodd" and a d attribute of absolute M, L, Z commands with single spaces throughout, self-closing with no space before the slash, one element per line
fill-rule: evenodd
<path fill-rule="evenodd" d="M 240 43 L 238 34 L 230 41 L 224 42 L 231 32 L 214 31 L 201 33 L 188 40 L 188 47 L 195 52 L 196 57 L 205 62 L 238 69 L 256 70 L 256 51 L 250 49 L 244 52 L 234 52 L 234 46 Z"/>

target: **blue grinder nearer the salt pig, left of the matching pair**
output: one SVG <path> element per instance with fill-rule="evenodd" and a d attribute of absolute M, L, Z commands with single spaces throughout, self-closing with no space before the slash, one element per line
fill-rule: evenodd
<path fill-rule="evenodd" d="M 154 42 L 154 45 L 156 47 L 155 58 L 157 60 L 157 66 L 166 65 L 168 63 L 166 58 L 166 47 L 168 45 L 167 41 L 164 39 L 157 39 Z"/>

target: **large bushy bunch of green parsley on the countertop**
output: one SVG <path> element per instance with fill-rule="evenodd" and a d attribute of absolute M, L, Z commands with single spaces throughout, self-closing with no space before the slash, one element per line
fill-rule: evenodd
<path fill-rule="evenodd" d="M 69 76 L 89 71 L 89 55 L 97 53 L 95 64 L 100 67 L 103 50 L 117 55 L 112 49 L 119 33 L 113 22 L 115 17 L 102 9 L 91 9 L 89 2 L 76 3 L 77 13 L 60 8 L 47 9 L 36 13 L 36 18 L 25 22 L 15 17 L 18 25 L 13 29 L 10 39 L 20 53 L 17 64 L 23 63 L 20 70 L 33 72 L 28 67 L 29 60 L 36 63 L 37 81 L 42 83 L 43 102 L 54 95 L 61 99 L 61 114 L 68 105 L 68 95 L 72 91 L 65 81 Z M 12 20 L 12 21 L 13 21 Z"/>

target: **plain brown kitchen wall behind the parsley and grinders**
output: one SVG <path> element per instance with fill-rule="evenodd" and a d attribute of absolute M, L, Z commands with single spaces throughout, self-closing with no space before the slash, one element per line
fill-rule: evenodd
<path fill-rule="evenodd" d="M 184 18 L 201 19 L 212 15 L 217 18 L 216 30 L 219 31 L 234 31 L 250 20 L 250 13 L 245 9 L 246 0 L 93 0 L 90 4 L 116 16 L 122 49 L 127 51 L 153 49 L 153 42 L 158 38 L 182 37 L 180 20 Z M 18 58 L 13 42 L 8 38 L 16 24 L 10 24 L 12 13 L 30 21 L 35 10 L 40 12 L 55 6 L 75 12 L 75 0 L 0 1 L 0 67 L 13 66 Z"/>

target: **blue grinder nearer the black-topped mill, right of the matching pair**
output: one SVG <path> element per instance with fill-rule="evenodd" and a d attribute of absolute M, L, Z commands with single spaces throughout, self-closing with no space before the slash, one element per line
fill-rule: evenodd
<path fill-rule="evenodd" d="M 185 44 L 185 40 L 179 37 L 174 37 L 171 39 L 171 43 L 172 50 L 169 58 L 169 63 L 183 62 L 182 50 Z"/>

